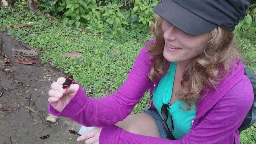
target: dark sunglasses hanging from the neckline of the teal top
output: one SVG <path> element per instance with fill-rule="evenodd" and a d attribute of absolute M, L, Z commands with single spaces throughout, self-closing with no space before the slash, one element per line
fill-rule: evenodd
<path fill-rule="evenodd" d="M 163 104 L 162 108 L 161 108 L 161 113 L 163 116 L 163 125 L 164 127 L 169 131 L 172 132 L 174 130 L 173 127 L 173 120 L 172 120 L 172 116 L 171 116 L 171 128 L 168 127 L 167 125 L 167 119 L 168 119 L 168 109 L 169 109 L 170 105 L 169 104 Z"/>

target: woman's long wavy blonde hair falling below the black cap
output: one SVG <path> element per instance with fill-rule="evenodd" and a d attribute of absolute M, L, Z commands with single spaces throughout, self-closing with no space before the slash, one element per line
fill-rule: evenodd
<path fill-rule="evenodd" d="M 163 39 L 162 21 L 157 16 L 150 32 L 156 37 L 156 42 L 147 46 L 154 62 L 148 74 L 149 79 L 155 82 L 168 70 L 168 61 L 163 57 L 165 41 Z M 206 49 L 190 63 L 182 74 L 181 91 L 176 95 L 180 101 L 186 102 L 187 110 L 196 107 L 196 99 L 202 95 L 207 86 L 207 92 L 216 89 L 230 69 L 235 66 L 241 55 L 236 50 L 236 41 L 232 31 L 217 27 L 210 31 L 210 39 Z M 207 95 L 207 94 L 206 94 Z M 206 96 L 205 95 L 205 96 Z"/>

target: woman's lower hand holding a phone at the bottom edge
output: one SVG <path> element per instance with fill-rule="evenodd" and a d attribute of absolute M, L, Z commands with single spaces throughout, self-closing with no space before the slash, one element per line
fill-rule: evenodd
<path fill-rule="evenodd" d="M 98 144 L 99 134 L 102 128 L 96 128 L 87 134 L 83 134 L 77 138 L 77 141 L 85 140 L 86 144 Z"/>

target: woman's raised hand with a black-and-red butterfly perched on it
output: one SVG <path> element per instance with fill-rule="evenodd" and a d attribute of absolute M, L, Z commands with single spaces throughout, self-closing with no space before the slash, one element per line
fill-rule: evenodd
<path fill-rule="evenodd" d="M 60 77 L 57 82 L 52 83 L 52 89 L 49 91 L 49 103 L 53 106 L 55 110 L 61 112 L 69 101 L 75 96 L 78 91 L 79 85 L 72 84 L 66 89 L 62 88 L 62 84 L 65 82 L 66 78 Z"/>

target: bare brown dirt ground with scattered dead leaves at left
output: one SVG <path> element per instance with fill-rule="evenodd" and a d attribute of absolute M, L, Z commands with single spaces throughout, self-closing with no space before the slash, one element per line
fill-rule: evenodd
<path fill-rule="evenodd" d="M 9 63 L 0 63 L 0 144 L 80 143 L 76 141 L 78 135 L 69 132 L 77 131 L 79 124 L 63 117 L 58 117 L 54 124 L 47 124 L 44 119 L 49 113 L 51 83 L 65 75 L 49 64 L 16 63 L 22 53 L 11 48 L 24 50 L 24 46 L 4 32 L 0 32 L 0 37 L 3 38 L 0 60 L 3 52 L 10 58 Z M 48 134 L 48 138 L 40 138 Z"/>

